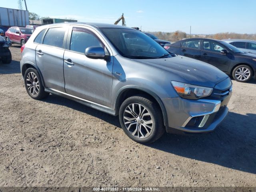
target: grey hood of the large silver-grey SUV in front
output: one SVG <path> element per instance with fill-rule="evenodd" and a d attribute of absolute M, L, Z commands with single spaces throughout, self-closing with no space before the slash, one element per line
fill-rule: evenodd
<path fill-rule="evenodd" d="M 173 76 L 171 80 L 198 86 L 214 88 L 217 83 L 228 78 L 228 76 L 218 68 L 205 62 L 184 56 L 134 60 L 169 71 Z"/>

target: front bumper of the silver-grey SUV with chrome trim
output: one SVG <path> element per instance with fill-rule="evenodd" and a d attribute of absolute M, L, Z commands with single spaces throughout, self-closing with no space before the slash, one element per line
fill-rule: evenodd
<path fill-rule="evenodd" d="M 187 100 L 180 97 L 162 99 L 168 118 L 166 132 L 212 132 L 228 114 L 226 105 L 231 95 L 232 92 L 222 100 Z"/>

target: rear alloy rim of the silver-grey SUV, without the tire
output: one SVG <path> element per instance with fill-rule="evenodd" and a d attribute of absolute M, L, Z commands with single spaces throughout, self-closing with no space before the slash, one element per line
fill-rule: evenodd
<path fill-rule="evenodd" d="M 36 96 L 38 94 L 40 85 L 38 78 L 34 72 L 29 72 L 26 76 L 26 86 L 32 96 Z"/>

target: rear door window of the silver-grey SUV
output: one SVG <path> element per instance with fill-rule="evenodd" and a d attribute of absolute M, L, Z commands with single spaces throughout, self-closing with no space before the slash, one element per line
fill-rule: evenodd
<path fill-rule="evenodd" d="M 66 28 L 50 28 L 44 36 L 43 44 L 63 48 Z"/>

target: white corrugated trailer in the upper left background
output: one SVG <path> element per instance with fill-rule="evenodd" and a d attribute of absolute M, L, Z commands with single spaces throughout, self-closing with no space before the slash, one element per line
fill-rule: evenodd
<path fill-rule="evenodd" d="M 28 11 L 0 7 L 0 26 L 29 25 Z"/>

